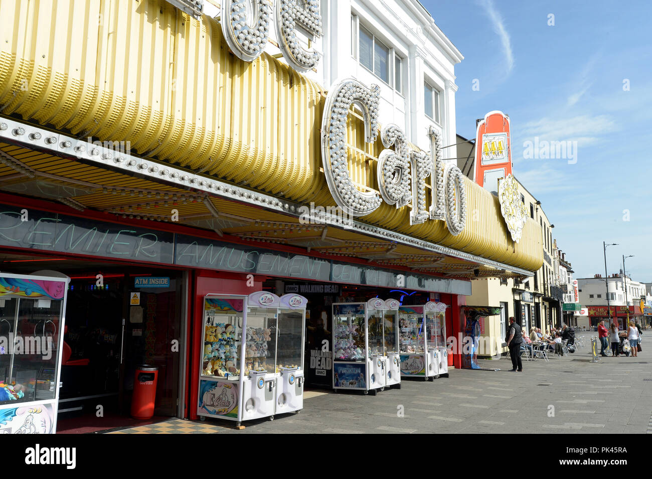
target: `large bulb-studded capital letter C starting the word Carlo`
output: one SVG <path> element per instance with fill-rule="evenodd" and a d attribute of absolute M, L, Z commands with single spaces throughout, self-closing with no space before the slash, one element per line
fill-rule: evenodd
<path fill-rule="evenodd" d="M 375 191 L 361 192 L 349 176 L 346 154 L 346 118 L 354 103 L 363 110 L 366 141 L 378 134 L 378 85 L 371 89 L 353 78 L 334 83 L 321 119 L 321 160 L 326 181 L 337 205 L 351 216 L 369 214 L 380 206 Z"/>

